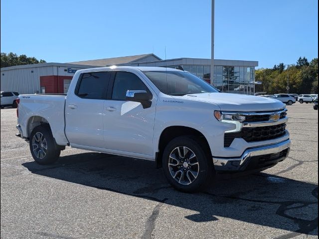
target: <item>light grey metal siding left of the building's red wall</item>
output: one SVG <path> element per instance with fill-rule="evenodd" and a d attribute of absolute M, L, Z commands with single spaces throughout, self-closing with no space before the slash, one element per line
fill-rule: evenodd
<path fill-rule="evenodd" d="M 17 91 L 19 94 L 35 94 L 40 92 L 40 76 L 54 75 L 55 72 L 54 66 L 4 70 L 0 73 L 0 89 Z"/>

